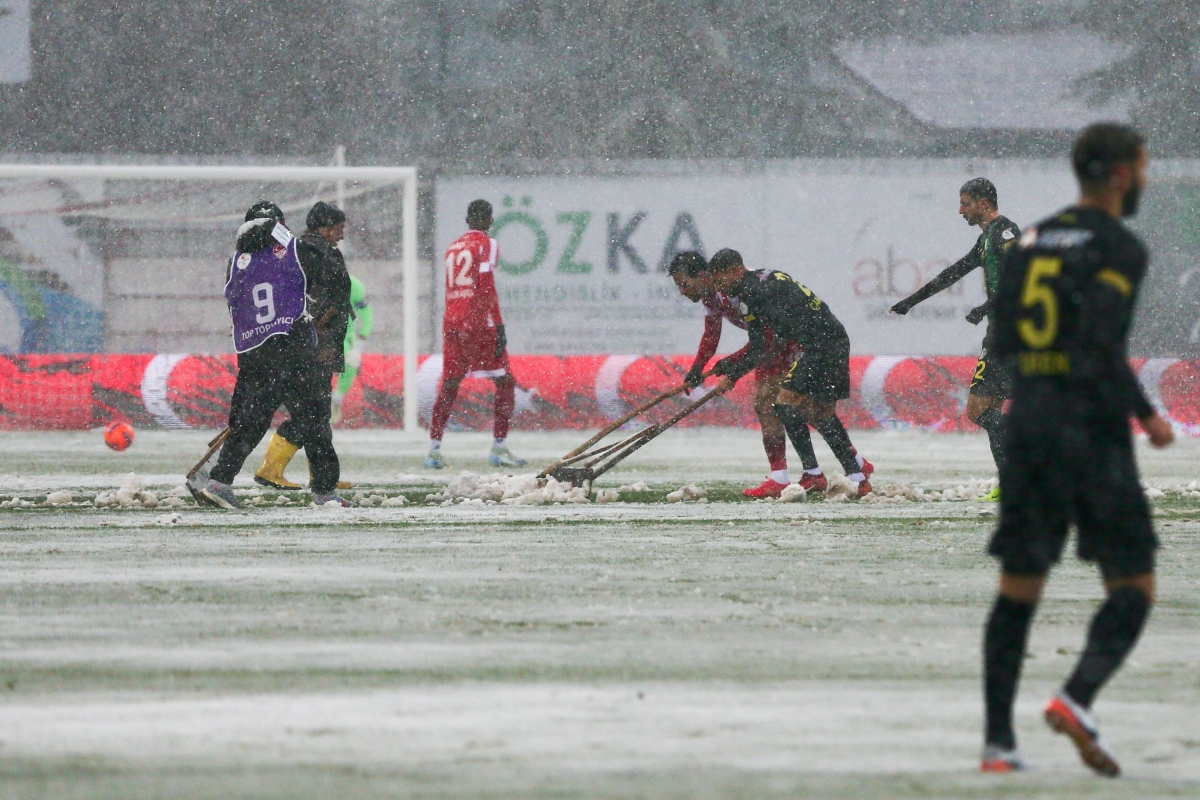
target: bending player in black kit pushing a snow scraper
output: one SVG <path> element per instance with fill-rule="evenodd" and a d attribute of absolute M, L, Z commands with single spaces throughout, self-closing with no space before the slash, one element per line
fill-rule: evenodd
<path fill-rule="evenodd" d="M 850 397 L 850 337 L 829 307 L 786 272 L 751 272 L 734 249 L 718 251 L 700 279 L 709 291 L 738 299 L 750 335 L 743 351 L 721 359 L 713 367 L 724 375 L 721 391 L 762 362 L 768 353 L 768 330 L 781 343 L 803 348 L 775 397 L 775 415 L 784 423 L 805 474 L 820 479 L 811 481 L 812 491 L 823 492 L 828 481 L 817 465 L 809 425 L 833 450 L 846 477 L 857 485 L 856 497 L 870 494 L 868 477 L 875 468 L 858 455 L 838 419 L 838 401 Z"/>

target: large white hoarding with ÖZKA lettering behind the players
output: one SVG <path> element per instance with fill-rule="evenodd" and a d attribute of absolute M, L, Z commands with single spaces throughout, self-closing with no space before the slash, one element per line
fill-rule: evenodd
<path fill-rule="evenodd" d="M 689 167 L 689 169 L 692 169 Z M 977 272 L 906 317 L 893 303 L 966 255 L 979 235 L 958 215 L 962 182 L 986 175 L 1022 228 L 1067 205 L 1069 170 L 1050 162 L 812 161 L 762 174 L 452 178 L 438 182 L 437 242 L 462 235 L 475 198 L 497 207 L 497 290 L 511 353 L 694 351 L 703 309 L 666 266 L 722 247 L 751 269 L 788 272 L 846 325 L 856 354 L 971 355 L 983 327 Z M 438 313 L 457 290 L 448 263 Z M 451 295 L 455 296 L 455 295 Z M 725 326 L 721 351 L 745 342 Z"/>

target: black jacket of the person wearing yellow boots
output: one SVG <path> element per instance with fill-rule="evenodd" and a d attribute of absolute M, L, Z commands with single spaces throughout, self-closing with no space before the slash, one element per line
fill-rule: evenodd
<path fill-rule="evenodd" d="M 346 329 L 354 314 L 346 258 L 317 233 L 296 241 L 296 257 L 308 281 L 308 314 L 317 325 L 317 360 L 334 372 L 346 369 Z"/>

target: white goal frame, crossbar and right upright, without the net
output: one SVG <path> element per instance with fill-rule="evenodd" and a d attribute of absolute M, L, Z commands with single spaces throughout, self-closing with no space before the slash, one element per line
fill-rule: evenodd
<path fill-rule="evenodd" d="M 404 309 L 404 432 L 418 425 L 418 265 L 416 265 L 416 167 L 206 167 L 116 164 L 5 164 L 0 180 L 127 180 L 127 181 L 287 181 L 326 182 L 386 181 L 403 186 L 401 209 L 401 257 Z"/>

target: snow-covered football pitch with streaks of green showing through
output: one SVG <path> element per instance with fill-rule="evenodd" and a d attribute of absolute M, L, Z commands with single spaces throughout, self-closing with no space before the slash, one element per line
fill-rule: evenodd
<path fill-rule="evenodd" d="M 1200 441 L 1139 445 L 1159 603 L 1097 704 L 1105 781 L 1039 718 L 1096 571 L 1067 560 L 1033 628 L 1037 771 L 976 774 L 986 441 L 852 433 L 883 500 L 740 501 L 764 458 L 734 429 L 661 437 L 612 503 L 448 498 L 497 471 L 486 435 L 431 475 L 371 431 L 336 440 L 372 507 L 247 469 L 245 513 L 175 497 L 210 433 L 0 434 L 0 796 L 1200 796 Z M 511 446 L 534 471 L 584 438 Z"/>

